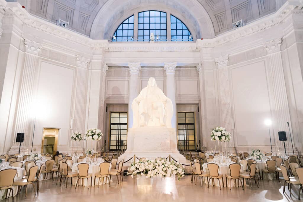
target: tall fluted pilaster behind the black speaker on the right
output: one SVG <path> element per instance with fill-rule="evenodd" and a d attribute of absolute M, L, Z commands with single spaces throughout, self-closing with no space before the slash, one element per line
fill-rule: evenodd
<path fill-rule="evenodd" d="M 281 58 L 281 38 L 271 40 L 264 43 L 264 48 L 267 51 L 268 67 L 266 68 L 266 76 L 270 83 L 270 98 L 271 98 L 271 114 L 273 131 L 275 138 L 275 144 L 278 145 L 280 151 L 284 151 L 284 145 L 282 141 L 278 139 L 278 131 L 286 131 L 287 141 L 285 141 L 287 152 L 292 153 L 291 139 L 289 136 L 289 130 L 287 122 L 290 121 L 290 113 L 288 108 L 288 99 L 285 86 L 285 78 L 282 66 Z M 291 123 L 290 123 L 291 127 Z M 294 137 L 292 141 L 295 147 Z M 297 152 L 296 148 L 294 148 Z"/>

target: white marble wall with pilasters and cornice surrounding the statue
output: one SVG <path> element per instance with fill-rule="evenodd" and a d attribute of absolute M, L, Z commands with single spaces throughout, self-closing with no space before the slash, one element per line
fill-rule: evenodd
<path fill-rule="evenodd" d="M 96 147 L 72 142 L 70 135 L 98 127 L 107 136 L 106 106 L 115 109 L 122 104 L 125 110 L 135 95 L 134 84 L 139 91 L 151 76 L 165 94 L 175 94 L 177 109 L 199 106 L 197 141 L 203 147 L 214 147 L 210 130 L 223 126 L 232 134 L 229 150 L 270 151 L 263 124 L 269 117 L 273 151 L 283 150 L 278 131 L 286 131 L 290 139 L 285 125 L 289 121 L 295 151 L 303 152 L 299 0 L 287 1 L 276 13 L 241 29 L 194 43 L 93 40 L 15 4 L 2 0 L 0 4 L 5 5 L 0 9 L 0 153 L 18 149 L 17 132 L 26 133 L 22 150 L 30 149 L 34 124 L 36 151 L 41 148 L 43 127 L 60 128 L 59 151 Z M 128 66 L 133 62 L 141 67 L 135 80 Z M 169 80 L 163 67 L 175 62 L 174 78 Z M 174 92 L 169 92 L 171 85 Z M 33 111 L 42 116 L 32 116 Z M 291 151 L 289 140 L 286 145 Z"/>

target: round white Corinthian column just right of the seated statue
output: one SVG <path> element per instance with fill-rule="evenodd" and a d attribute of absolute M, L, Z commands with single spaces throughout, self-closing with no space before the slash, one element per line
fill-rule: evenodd
<path fill-rule="evenodd" d="M 176 116 L 176 90 L 175 90 L 175 71 L 176 62 L 165 62 L 164 69 L 166 72 L 166 96 L 171 99 L 173 106 L 173 116 L 171 119 L 172 128 L 176 128 L 177 116 Z"/>

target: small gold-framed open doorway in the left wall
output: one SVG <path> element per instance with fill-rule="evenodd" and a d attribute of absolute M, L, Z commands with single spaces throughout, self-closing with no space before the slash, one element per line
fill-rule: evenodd
<path fill-rule="evenodd" d="M 58 144 L 58 128 L 44 128 L 42 135 L 41 153 L 52 154 L 53 156 L 57 151 Z"/>

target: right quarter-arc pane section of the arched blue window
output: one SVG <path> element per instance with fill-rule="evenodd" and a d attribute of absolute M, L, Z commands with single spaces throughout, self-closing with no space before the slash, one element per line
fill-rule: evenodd
<path fill-rule="evenodd" d="M 188 28 L 173 15 L 171 15 L 171 41 L 193 41 Z"/>

